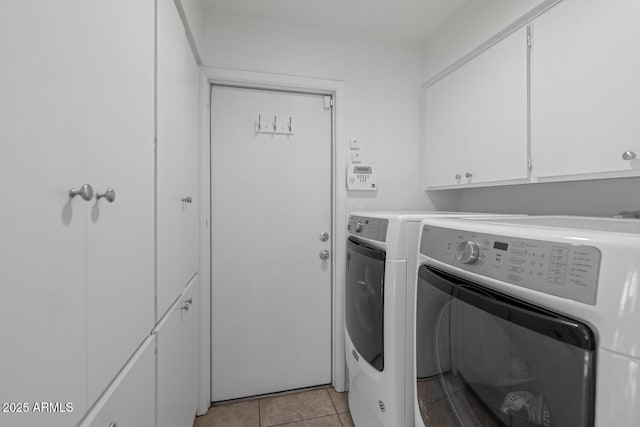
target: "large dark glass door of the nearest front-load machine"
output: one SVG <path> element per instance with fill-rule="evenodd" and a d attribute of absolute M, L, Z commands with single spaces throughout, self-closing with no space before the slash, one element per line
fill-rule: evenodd
<path fill-rule="evenodd" d="M 437 375 L 417 379 L 427 427 L 593 426 L 586 324 L 430 266 L 418 276 L 422 297 L 443 301 L 432 325 Z"/>

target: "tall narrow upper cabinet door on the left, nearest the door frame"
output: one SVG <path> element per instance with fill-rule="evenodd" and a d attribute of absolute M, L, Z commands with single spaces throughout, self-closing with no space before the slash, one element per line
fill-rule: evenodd
<path fill-rule="evenodd" d="M 158 0 L 157 20 L 160 318 L 198 270 L 199 70 L 173 0 Z"/>

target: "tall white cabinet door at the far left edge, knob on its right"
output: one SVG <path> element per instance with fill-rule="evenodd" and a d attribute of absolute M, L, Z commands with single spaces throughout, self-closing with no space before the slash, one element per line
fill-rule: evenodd
<path fill-rule="evenodd" d="M 10 426 L 75 425 L 86 410 L 82 0 L 5 2 L 0 13 L 0 413 Z"/>

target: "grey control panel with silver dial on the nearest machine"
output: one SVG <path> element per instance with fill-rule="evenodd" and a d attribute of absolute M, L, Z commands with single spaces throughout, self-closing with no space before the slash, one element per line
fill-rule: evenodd
<path fill-rule="evenodd" d="M 425 225 L 420 253 L 517 286 L 595 305 L 602 255 L 594 246 Z"/>

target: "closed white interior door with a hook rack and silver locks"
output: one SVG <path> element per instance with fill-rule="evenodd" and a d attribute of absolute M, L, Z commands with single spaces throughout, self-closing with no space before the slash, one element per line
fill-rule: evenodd
<path fill-rule="evenodd" d="M 274 118 L 292 134 L 256 131 Z M 331 109 L 319 95 L 214 87 L 211 120 L 212 400 L 327 384 Z"/>

